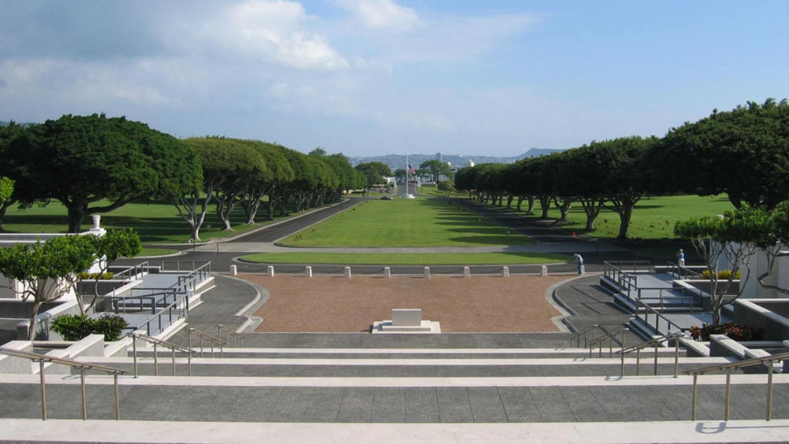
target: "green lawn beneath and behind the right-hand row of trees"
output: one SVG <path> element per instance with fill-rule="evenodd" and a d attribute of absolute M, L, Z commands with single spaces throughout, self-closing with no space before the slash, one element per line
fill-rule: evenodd
<path fill-rule="evenodd" d="M 526 202 L 522 209 L 525 212 Z M 514 208 L 514 201 L 513 201 Z M 643 198 L 636 205 L 630 220 L 627 235 L 631 239 L 669 239 L 675 238 L 675 222 L 701 216 L 720 215 L 724 211 L 733 210 L 725 196 L 656 196 Z M 534 205 L 534 212 L 540 214 L 540 204 Z M 552 218 L 559 218 L 559 211 L 554 208 L 548 213 Z M 533 216 L 537 218 L 537 216 Z M 592 237 L 615 238 L 619 234 L 619 215 L 611 210 L 600 211 L 591 232 L 585 232 L 586 215 L 580 203 L 574 203 L 570 210 L 570 225 L 563 228 L 577 230 Z"/>

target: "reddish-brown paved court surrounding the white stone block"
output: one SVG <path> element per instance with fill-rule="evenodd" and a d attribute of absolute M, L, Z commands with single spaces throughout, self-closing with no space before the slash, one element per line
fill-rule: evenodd
<path fill-rule="evenodd" d="M 392 308 L 421 308 L 422 319 L 441 323 L 444 333 L 559 331 L 561 315 L 545 299 L 551 285 L 568 275 L 342 276 L 241 274 L 263 285 L 269 299 L 256 316 L 260 332 L 369 332 L 374 321 L 391 319 Z"/>

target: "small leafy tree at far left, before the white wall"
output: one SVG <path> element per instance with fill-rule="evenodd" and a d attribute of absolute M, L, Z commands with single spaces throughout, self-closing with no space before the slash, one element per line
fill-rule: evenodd
<path fill-rule="evenodd" d="M 20 282 L 23 300 L 33 300 L 29 340 L 36 334 L 41 305 L 75 289 L 80 271 L 90 267 L 94 259 L 91 241 L 82 236 L 53 237 L 46 242 L 0 248 L 0 274 L 9 282 Z"/>

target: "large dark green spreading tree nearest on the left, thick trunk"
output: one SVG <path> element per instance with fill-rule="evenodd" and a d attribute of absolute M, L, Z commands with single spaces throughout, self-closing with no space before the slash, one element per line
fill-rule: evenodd
<path fill-rule="evenodd" d="M 19 199 L 60 201 L 68 211 L 69 233 L 80 231 L 86 215 L 132 200 L 179 196 L 200 178 L 194 151 L 181 141 L 104 114 L 67 114 L 33 125 L 15 145 L 6 155 L 19 166 L 10 176 Z"/>

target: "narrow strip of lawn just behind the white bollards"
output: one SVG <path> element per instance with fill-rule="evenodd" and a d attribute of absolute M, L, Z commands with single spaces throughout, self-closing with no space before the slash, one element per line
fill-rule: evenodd
<path fill-rule="evenodd" d="M 337 263 L 380 265 L 480 265 L 518 263 L 557 263 L 572 259 L 567 255 L 545 253 L 453 253 L 453 254 L 373 254 L 373 253 L 260 253 L 242 256 L 256 263 Z"/>

